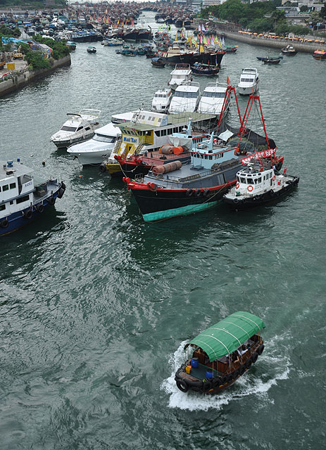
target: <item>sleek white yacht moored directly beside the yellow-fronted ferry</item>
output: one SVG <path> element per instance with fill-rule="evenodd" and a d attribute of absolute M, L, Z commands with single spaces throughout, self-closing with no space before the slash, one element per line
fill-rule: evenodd
<path fill-rule="evenodd" d="M 96 129 L 91 139 L 76 143 L 67 151 L 77 158 L 81 165 L 101 164 L 104 158 L 111 155 L 118 136 L 120 136 L 120 129 L 110 122 Z"/>

